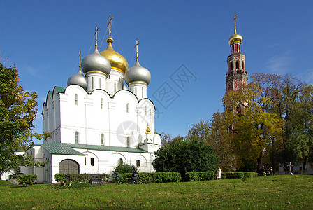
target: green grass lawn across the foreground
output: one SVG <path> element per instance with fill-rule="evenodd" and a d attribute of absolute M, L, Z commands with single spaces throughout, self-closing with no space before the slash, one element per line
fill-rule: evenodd
<path fill-rule="evenodd" d="M 313 209 L 313 176 L 146 185 L 4 186 L 1 209 Z"/>

